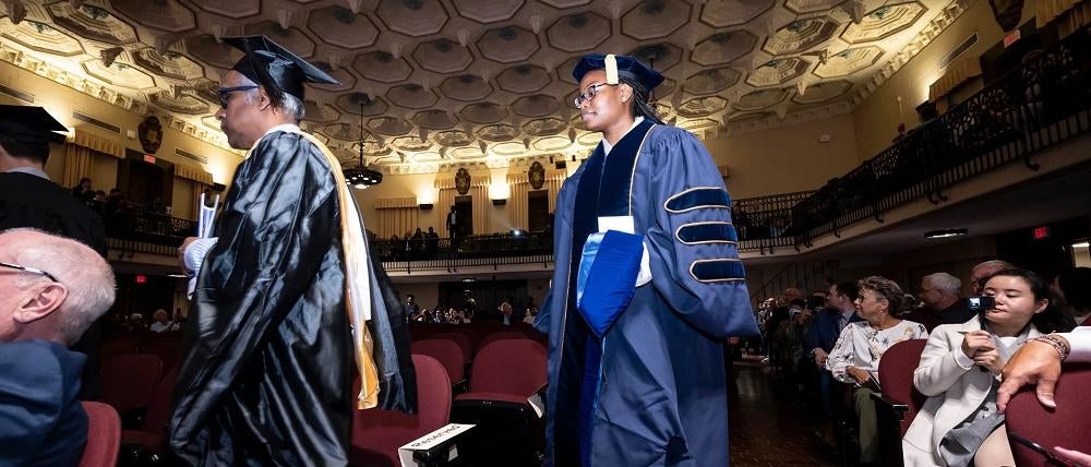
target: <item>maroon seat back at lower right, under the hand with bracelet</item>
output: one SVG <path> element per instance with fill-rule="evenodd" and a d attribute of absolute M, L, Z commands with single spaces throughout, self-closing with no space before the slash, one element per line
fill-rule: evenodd
<path fill-rule="evenodd" d="M 1011 397 L 1006 411 L 1008 439 L 1016 465 L 1048 464 L 1054 446 L 1091 453 L 1091 364 L 1066 364 L 1054 391 L 1056 410 L 1038 402 L 1034 386 Z"/>

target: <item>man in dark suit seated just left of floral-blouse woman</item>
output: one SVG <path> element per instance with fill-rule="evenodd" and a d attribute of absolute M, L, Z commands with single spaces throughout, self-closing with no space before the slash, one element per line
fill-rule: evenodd
<path fill-rule="evenodd" d="M 860 291 L 856 283 L 840 283 L 829 286 L 829 295 L 826 296 L 826 309 L 816 313 L 807 326 L 807 333 L 803 336 L 803 349 L 811 358 L 801 364 L 800 371 L 810 373 L 807 381 L 811 386 L 816 386 L 811 393 L 815 394 L 822 408 L 823 423 L 819 435 L 827 446 L 837 444 L 834 439 L 834 421 L 837 417 L 834 404 L 834 387 L 837 381 L 834 375 L 826 371 L 826 360 L 829 352 L 834 350 L 841 330 L 853 321 L 859 321 L 856 308 L 853 302 Z"/>

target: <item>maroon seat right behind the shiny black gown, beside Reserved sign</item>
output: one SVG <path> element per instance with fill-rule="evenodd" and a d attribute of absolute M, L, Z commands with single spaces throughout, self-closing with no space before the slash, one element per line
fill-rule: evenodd
<path fill-rule="evenodd" d="M 412 356 L 417 369 L 417 414 L 394 410 L 353 410 L 352 446 L 349 460 L 353 466 L 396 467 L 398 447 L 435 431 L 451 416 L 451 380 L 443 364 L 424 355 Z M 360 382 L 353 387 L 359 390 Z"/>

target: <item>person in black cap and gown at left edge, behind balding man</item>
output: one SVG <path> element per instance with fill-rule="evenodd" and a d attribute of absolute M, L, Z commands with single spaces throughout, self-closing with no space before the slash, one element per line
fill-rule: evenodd
<path fill-rule="evenodd" d="M 80 241 L 106 256 L 103 218 L 49 180 L 45 172 L 49 142 L 67 131 L 46 109 L 0 106 L 0 230 L 32 227 Z M 81 397 L 98 397 L 100 325 L 95 324 L 73 350 L 87 355 Z"/>

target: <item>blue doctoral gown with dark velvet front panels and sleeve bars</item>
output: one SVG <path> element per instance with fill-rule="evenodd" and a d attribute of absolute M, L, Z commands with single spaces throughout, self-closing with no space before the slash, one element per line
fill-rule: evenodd
<path fill-rule="evenodd" d="M 538 319 L 550 331 L 547 466 L 727 465 L 721 339 L 758 333 L 729 206 L 702 143 L 648 120 L 565 181 Z M 597 216 L 625 214 L 652 280 L 598 339 L 575 306 L 576 270 Z"/>

